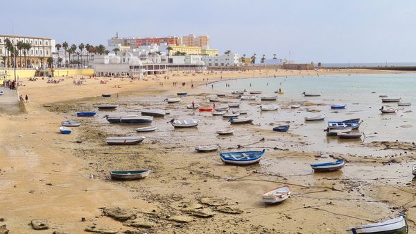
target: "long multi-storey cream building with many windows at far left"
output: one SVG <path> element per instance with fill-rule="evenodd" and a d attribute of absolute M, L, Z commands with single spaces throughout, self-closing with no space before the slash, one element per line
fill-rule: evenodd
<path fill-rule="evenodd" d="M 46 58 L 52 56 L 55 52 L 55 40 L 47 37 L 31 37 L 24 35 L 0 35 L 0 60 L 3 66 L 12 66 L 12 53 L 6 48 L 5 40 L 10 40 L 12 45 L 17 48 L 16 67 L 41 67 L 42 59 L 46 61 Z M 17 44 L 26 43 L 31 47 L 26 49 L 17 46 Z M 26 53 L 26 60 L 25 60 Z M 4 56 L 6 59 L 4 60 Z"/>

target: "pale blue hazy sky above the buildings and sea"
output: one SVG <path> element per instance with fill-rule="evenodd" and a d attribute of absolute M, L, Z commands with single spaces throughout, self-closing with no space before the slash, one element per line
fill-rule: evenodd
<path fill-rule="evenodd" d="M 414 0 L 19 0 L 0 34 L 104 44 L 114 37 L 209 35 L 211 48 L 295 62 L 416 62 Z M 8 9 L 8 10 L 4 10 Z"/>

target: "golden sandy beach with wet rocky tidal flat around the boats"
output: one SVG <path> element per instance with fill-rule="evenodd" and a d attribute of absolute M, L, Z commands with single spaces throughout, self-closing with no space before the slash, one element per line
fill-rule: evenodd
<path fill-rule="evenodd" d="M 26 111 L 0 113 L 0 226 L 6 224 L 10 234 L 85 233 L 88 226 L 109 228 L 107 233 L 345 233 L 347 227 L 381 222 L 404 211 L 409 233 L 416 233 L 416 184 L 410 174 L 416 148 L 411 139 L 357 142 L 343 154 L 331 149 L 305 151 L 304 135 L 276 135 L 255 124 L 235 126 L 232 136 L 217 136 L 215 129 L 227 127 L 227 122 L 185 108 L 191 101 L 211 106 L 207 96 L 218 91 L 198 88 L 211 82 L 317 73 L 391 71 L 169 72 L 168 79 L 158 75 L 147 81 L 81 77 L 57 84 L 24 81 L 19 93 L 29 97 Z M 176 92 L 189 95 L 180 103 L 166 104 L 164 99 Z M 101 94 L 106 93 L 112 97 L 103 99 Z M 227 96 L 218 105 L 235 100 Z M 103 103 L 119 108 L 98 111 L 92 118 L 75 115 Z M 113 126 L 104 118 L 117 111 L 139 115 L 144 108 L 170 110 L 171 115 L 155 118 L 159 129 L 144 134 L 136 133 L 135 126 Z M 166 124 L 174 117 L 195 116 L 202 120 L 198 128 L 175 130 Z M 62 135 L 58 128 L 65 119 L 80 120 L 82 125 L 71 135 Z M 132 146 L 105 144 L 105 137 L 125 134 L 144 135 L 146 140 Z M 194 147 L 205 144 L 219 144 L 220 151 L 266 149 L 266 155 L 259 165 L 223 165 L 218 151 L 196 153 Z M 331 173 L 313 173 L 309 167 L 331 158 L 344 158 L 347 166 Z M 110 180 L 110 170 L 135 168 L 153 172 L 140 181 Z M 261 194 L 285 184 L 291 187 L 291 198 L 275 206 L 261 202 Z M 112 208 L 117 207 L 121 210 L 114 215 Z M 49 229 L 33 231 L 28 225 L 33 219 L 47 219 Z"/>

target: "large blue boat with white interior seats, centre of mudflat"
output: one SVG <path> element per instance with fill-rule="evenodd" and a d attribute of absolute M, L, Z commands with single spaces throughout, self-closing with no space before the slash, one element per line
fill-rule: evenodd
<path fill-rule="evenodd" d="M 261 157 L 264 155 L 262 151 L 239 151 L 239 152 L 222 152 L 220 153 L 221 161 L 225 164 L 232 165 L 252 165 L 259 163 Z"/>

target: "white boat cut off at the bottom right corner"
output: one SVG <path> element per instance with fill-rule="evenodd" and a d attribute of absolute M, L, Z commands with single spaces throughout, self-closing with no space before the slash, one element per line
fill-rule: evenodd
<path fill-rule="evenodd" d="M 385 222 L 347 228 L 345 231 L 347 231 L 347 234 L 405 234 L 408 233 L 409 229 L 406 217 L 400 215 L 395 219 L 389 219 Z"/>

